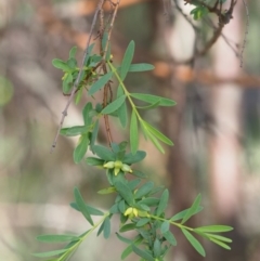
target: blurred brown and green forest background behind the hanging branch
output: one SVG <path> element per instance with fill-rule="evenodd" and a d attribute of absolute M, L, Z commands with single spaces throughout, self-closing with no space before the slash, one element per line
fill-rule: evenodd
<path fill-rule="evenodd" d="M 179 2 L 190 13 L 192 6 Z M 79 47 L 77 56 L 81 58 L 95 5 L 94 0 L 0 0 L 2 261 L 36 260 L 31 252 L 53 249 L 36 242 L 39 234 L 86 230 L 87 222 L 68 206 L 74 186 L 80 188 L 86 201 L 102 209 L 113 200 L 96 194 L 106 186 L 102 171 L 73 162 L 77 140 L 61 136 L 50 154 L 67 101 L 61 91 L 62 74 L 51 61 L 66 60 L 73 45 Z M 229 235 L 231 251 L 203 242 L 205 259 L 173 231 L 178 247 L 168 256 L 169 261 L 260 260 L 260 1 L 248 1 L 248 9 L 249 35 L 240 68 L 237 54 L 247 24 L 242 1 L 237 1 L 223 36 L 193 66 L 181 61 L 192 56 L 196 37 L 176 1 L 166 0 L 164 5 L 162 0 L 122 0 L 120 4 L 112 38 L 114 63 L 121 60 L 133 39 L 134 63 L 152 63 L 155 70 L 133 74 L 127 79 L 129 89 L 178 103 L 144 114 L 174 146 L 166 147 L 164 156 L 142 140 L 148 155 L 140 168 L 157 184 L 169 187 L 169 214 L 190 207 L 202 193 L 205 210 L 192 225 L 235 227 Z M 202 37 L 211 31 L 204 24 Z M 70 106 L 65 126 L 81 122 L 86 101 L 79 107 Z M 119 128 L 113 121 L 116 142 L 128 138 Z M 99 141 L 106 144 L 104 128 Z M 93 235 L 73 260 L 120 260 L 123 248 L 116 236 L 104 240 Z M 136 259 L 131 256 L 129 260 Z"/>

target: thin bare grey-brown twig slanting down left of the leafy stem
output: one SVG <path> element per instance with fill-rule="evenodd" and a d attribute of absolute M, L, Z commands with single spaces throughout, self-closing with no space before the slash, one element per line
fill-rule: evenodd
<path fill-rule="evenodd" d="M 73 91 L 72 91 L 70 96 L 69 96 L 69 99 L 67 101 L 67 104 L 66 104 L 64 110 L 62 112 L 62 119 L 61 119 L 61 122 L 60 122 L 60 126 L 58 126 L 55 139 L 54 139 L 54 141 L 52 143 L 51 153 L 53 153 L 54 148 L 56 147 L 56 143 L 57 143 L 57 139 L 58 139 L 58 135 L 60 135 L 60 131 L 61 131 L 61 129 L 63 127 L 64 119 L 67 116 L 68 107 L 69 107 L 69 105 L 70 105 L 70 103 L 72 103 L 72 101 L 74 99 L 74 95 L 75 95 L 75 93 L 77 91 L 77 88 L 78 88 L 81 75 L 83 73 L 83 66 L 84 66 L 86 58 L 87 58 L 87 55 L 88 55 L 88 48 L 90 45 L 90 41 L 91 41 L 91 38 L 92 38 L 92 35 L 93 35 L 93 30 L 94 30 L 94 26 L 95 26 L 95 23 L 96 23 L 98 14 L 99 14 L 103 3 L 104 3 L 104 0 L 100 0 L 98 6 L 95 9 L 94 17 L 93 17 L 92 25 L 91 25 L 91 28 L 90 28 L 90 35 L 89 35 L 89 39 L 87 41 L 87 45 L 86 45 L 86 49 L 84 49 L 84 54 L 83 54 L 83 58 L 82 58 L 81 66 L 80 66 L 80 69 L 79 69 L 79 74 L 78 74 L 78 77 L 77 77 L 76 81 L 74 82 Z"/>

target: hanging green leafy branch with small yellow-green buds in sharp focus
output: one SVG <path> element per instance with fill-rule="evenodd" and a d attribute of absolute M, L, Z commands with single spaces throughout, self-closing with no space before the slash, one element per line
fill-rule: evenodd
<path fill-rule="evenodd" d="M 105 44 L 107 36 L 103 39 Z M 91 55 L 93 44 L 88 49 L 88 55 L 84 61 L 83 77 L 78 86 L 79 95 L 76 103 L 82 95 L 83 87 L 87 88 L 89 96 L 95 95 L 112 79 L 117 82 L 116 96 L 110 102 L 104 104 L 94 104 L 88 102 L 82 108 L 81 126 L 66 127 L 61 130 L 61 134 L 66 136 L 79 136 L 78 144 L 74 149 L 74 161 L 80 162 L 87 151 L 90 149 L 92 156 L 86 158 L 86 162 L 92 167 L 105 170 L 108 186 L 100 190 L 100 195 L 113 194 L 115 196 L 114 204 L 109 210 L 103 211 L 86 204 L 79 190 L 74 190 L 74 201 L 72 208 L 79 211 L 89 223 L 90 229 L 81 235 L 62 234 L 62 235 L 40 235 L 38 240 L 43 243 L 61 243 L 66 244 L 63 248 L 34 253 L 35 257 L 48 258 L 47 261 L 67 261 L 88 237 L 90 233 L 98 230 L 96 234 L 105 238 L 109 238 L 112 234 L 110 220 L 114 216 L 120 219 L 119 229 L 116 236 L 119 240 L 127 244 L 126 249 L 121 253 L 121 260 L 126 259 L 130 253 L 134 252 L 141 261 L 164 261 L 165 256 L 171 247 L 177 246 L 177 239 L 170 227 L 179 227 L 196 251 L 205 257 L 205 250 L 198 239 L 194 236 L 200 236 L 222 248 L 230 249 L 230 238 L 219 235 L 232 230 L 225 225 L 208 225 L 200 227 L 190 227 L 186 222 L 195 214 L 203 210 L 200 206 L 202 196 L 198 195 L 193 205 L 172 217 L 166 217 L 166 209 L 169 203 L 169 191 L 161 186 L 156 186 L 154 182 L 146 180 L 146 174 L 135 168 L 135 164 L 142 161 L 146 153 L 139 151 L 139 132 L 143 132 L 144 138 L 150 140 L 161 153 L 164 147 L 161 143 L 172 145 L 172 142 L 164 135 L 159 130 L 145 121 L 140 109 L 154 109 L 158 106 L 172 106 L 174 101 L 151 95 L 146 93 L 130 93 L 125 84 L 128 73 L 145 71 L 153 69 L 150 64 L 132 64 L 134 54 L 134 42 L 131 41 L 126 50 L 122 62 L 115 67 L 109 61 L 110 52 L 106 55 L 106 60 L 95 54 Z M 79 68 L 75 58 L 76 48 L 69 52 L 68 61 L 53 60 L 53 65 L 64 71 L 63 92 L 68 93 L 72 84 L 77 79 Z M 98 66 L 105 65 L 107 73 L 101 74 L 96 71 Z M 141 101 L 145 105 L 136 106 L 134 101 Z M 129 106 L 127 106 L 128 101 Z M 129 113 L 129 107 L 131 112 Z M 128 115 L 130 115 L 129 131 L 130 142 L 110 143 L 109 147 L 96 144 L 99 133 L 99 125 L 102 116 L 110 116 L 118 118 L 121 126 L 128 126 Z M 130 145 L 128 147 L 128 144 Z M 130 151 L 130 152 L 129 152 Z M 131 174 L 131 179 L 129 179 Z M 101 219 L 94 223 L 93 216 L 100 216 Z M 127 238 L 123 233 L 134 231 L 133 238 Z"/>

